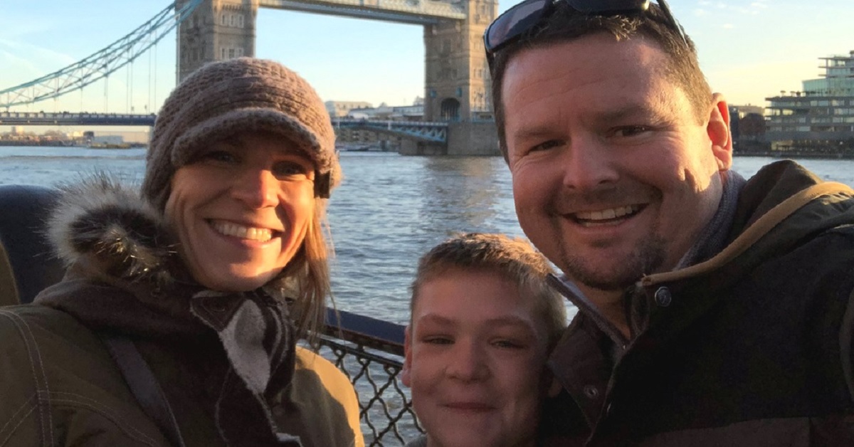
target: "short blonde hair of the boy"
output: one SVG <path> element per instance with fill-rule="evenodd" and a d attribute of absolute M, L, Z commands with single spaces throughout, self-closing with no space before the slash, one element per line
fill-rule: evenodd
<path fill-rule="evenodd" d="M 410 324 L 418 292 L 428 281 L 450 271 L 496 273 L 518 286 L 522 297 L 534 300 L 536 317 L 546 326 L 551 350 L 566 327 L 564 299 L 546 283 L 553 268 L 523 238 L 470 232 L 436 245 L 418 260 L 409 302 Z"/>

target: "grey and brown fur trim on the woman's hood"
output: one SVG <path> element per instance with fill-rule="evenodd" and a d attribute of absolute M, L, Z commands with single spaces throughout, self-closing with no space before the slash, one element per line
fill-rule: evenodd
<path fill-rule="evenodd" d="M 138 191 L 103 173 L 60 191 L 48 238 L 67 266 L 89 258 L 118 278 L 167 273 L 174 253 L 167 226 Z"/>

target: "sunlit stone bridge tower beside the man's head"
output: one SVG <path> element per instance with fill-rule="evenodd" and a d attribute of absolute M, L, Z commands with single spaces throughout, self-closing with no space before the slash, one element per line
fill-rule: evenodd
<path fill-rule="evenodd" d="M 495 19 L 497 0 L 457 0 L 465 21 L 424 26 L 424 120 L 471 121 L 492 116 L 483 32 Z M 459 4 L 458 3 L 458 4 Z"/>

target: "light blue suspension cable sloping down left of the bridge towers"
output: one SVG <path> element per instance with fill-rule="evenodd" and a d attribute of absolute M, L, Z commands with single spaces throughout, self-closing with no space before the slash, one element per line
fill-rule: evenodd
<path fill-rule="evenodd" d="M 190 0 L 176 8 L 178 2 L 143 23 L 125 37 L 116 40 L 85 59 L 25 84 L 0 90 L 0 108 L 37 103 L 61 97 L 69 91 L 82 89 L 132 62 L 137 56 L 157 44 L 196 9 L 202 0 Z M 106 94 L 105 94 L 106 96 Z"/>

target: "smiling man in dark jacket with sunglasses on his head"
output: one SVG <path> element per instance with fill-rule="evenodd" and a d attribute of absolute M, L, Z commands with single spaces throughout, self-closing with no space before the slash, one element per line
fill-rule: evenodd
<path fill-rule="evenodd" d="M 549 443 L 854 445 L 854 191 L 730 171 L 663 0 L 528 0 L 485 44 L 519 223 L 579 309 Z"/>

